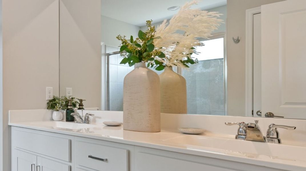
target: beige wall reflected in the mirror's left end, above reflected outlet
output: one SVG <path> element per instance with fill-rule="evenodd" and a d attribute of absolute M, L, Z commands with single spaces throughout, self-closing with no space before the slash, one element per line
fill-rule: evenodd
<path fill-rule="evenodd" d="M 60 96 L 66 87 L 85 99 L 84 107 L 101 107 L 100 0 L 60 1 Z"/>

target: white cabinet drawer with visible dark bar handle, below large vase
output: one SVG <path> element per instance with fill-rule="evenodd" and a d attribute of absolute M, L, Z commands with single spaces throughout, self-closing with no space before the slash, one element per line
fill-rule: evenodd
<path fill-rule="evenodd" d="M 128 171 L 129 168 L 128 150 L 101 144 L 75 141 L 75 159 L 77 165 L 99 171 Z"/>

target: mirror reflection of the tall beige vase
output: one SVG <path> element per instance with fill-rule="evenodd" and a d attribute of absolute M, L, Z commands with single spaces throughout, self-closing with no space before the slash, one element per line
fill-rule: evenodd
<path fill-rule="evenodd" d="M 183 76 L 166 67 L 160 78 L 161 113 L 187 113 L 186 80 Z"/>

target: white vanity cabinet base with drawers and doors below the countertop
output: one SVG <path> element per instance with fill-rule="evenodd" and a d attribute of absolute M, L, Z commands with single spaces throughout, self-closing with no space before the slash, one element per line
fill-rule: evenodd
<path fill-rule="evenodd" d="M 240 162 L 241 158 L 223 160 L 81 137 L 83 134 L 15 126 L 11 133 L 13 171 L 281 171 Z"/>

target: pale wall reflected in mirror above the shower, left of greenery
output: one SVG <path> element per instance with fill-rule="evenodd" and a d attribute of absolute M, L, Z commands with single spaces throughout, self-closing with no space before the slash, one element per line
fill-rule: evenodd
<path fill-rule="evenodd" d="M 136 38 L 139 30 L 138 26 L 101 16 L 101 42 L 104 42 L 105 45 L 118 47 L 121 41 L 117 40 L 116 36 L 125 35 L 130 38 L 132 35 Z"/>

